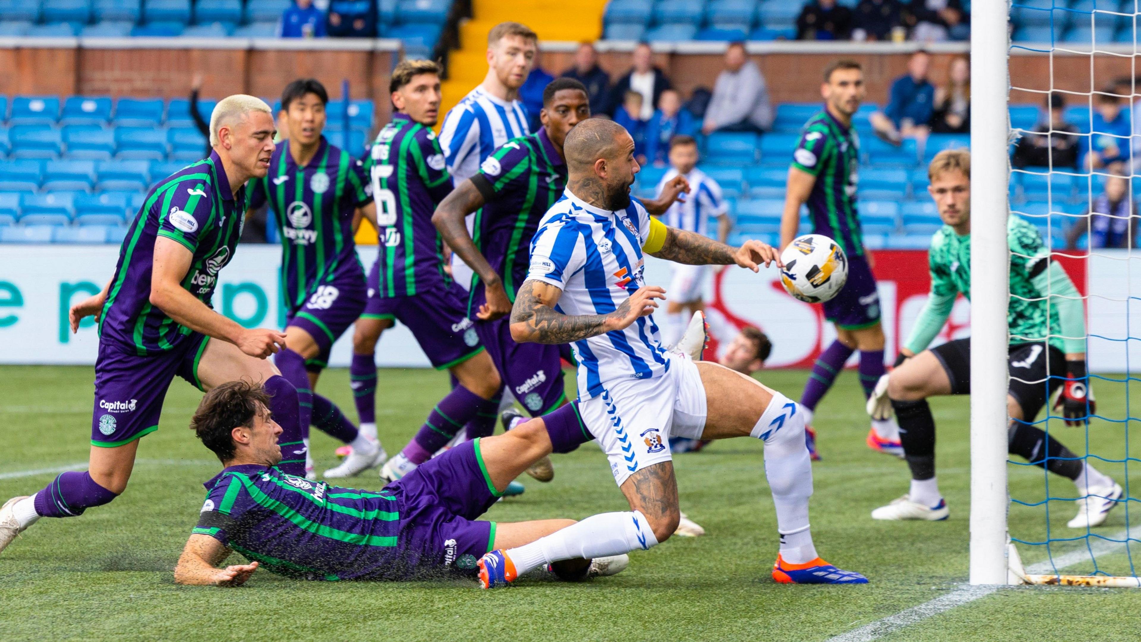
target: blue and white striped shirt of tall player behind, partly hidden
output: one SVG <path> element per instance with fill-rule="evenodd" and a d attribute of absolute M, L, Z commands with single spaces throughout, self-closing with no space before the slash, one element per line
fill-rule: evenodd
<path fill-rule="evenodd" d="M 483 87 L 468 93 L 444 117 L 439 145 L 456 184 L 471 178 L 496 147 L 531 134 L 527 110 L 519 101 L 501 101 Z"/>

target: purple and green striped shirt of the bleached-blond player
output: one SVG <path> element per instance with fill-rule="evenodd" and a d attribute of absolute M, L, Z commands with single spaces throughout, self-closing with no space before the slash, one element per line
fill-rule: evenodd
<path fill-rule="evenodd" d="M 192 330 L 151 304 L 154 243 L 159 236 L 193 254 L 183 287 L 210 305 L 218 272 L 234 257 L 245 222 L 245 188 L 230 192 L 217 152 L 151 188 L 127 230 L 99 322 L 99 340 L 140 356 L 173 350 Z"/>

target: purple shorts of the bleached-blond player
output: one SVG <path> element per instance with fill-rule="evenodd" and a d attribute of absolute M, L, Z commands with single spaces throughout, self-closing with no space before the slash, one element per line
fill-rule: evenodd
<path fill-rule="evenodd" d="M 91 444 L 113 448 L 159 430 L 162 402 L 175 375 L 202 390 L 199 360 L 209 340 L 191 332 L 172 350 L 146 356 L 110 340 L 99 342 Z"/>

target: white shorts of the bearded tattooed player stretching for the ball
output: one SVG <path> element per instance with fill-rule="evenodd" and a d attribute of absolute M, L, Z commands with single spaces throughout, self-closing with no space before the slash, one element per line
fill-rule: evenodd
<path fill-rule="evenodd" d="M 705 387 L 697 366 L 680 352 L 666 356 L 670 369 L 661 377 L 614 379 L 578 403 L 620 487 L 636 472 L 671 460 L 670 438 L 698 439 L 705 430 Z"/>

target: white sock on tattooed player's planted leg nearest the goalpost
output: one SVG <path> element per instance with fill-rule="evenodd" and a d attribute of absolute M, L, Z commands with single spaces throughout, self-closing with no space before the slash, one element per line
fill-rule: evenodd
<path fill-rule="evenodd" d="M 803 408 L 776 393 L 750 434 L 764 441 L 764 476 L 777 509 L 780 555 L 791 564 L 815 560 L 816 547 L 808 525 L 812 462 L 804 446 Z"/>

